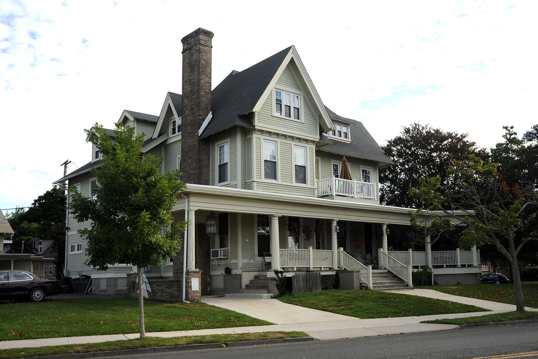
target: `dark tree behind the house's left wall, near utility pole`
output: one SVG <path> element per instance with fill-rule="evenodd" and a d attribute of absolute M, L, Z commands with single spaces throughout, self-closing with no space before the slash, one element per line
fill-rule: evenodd
<path fill-rule="evenodd" d="M 24 215 L 27 221 L 37 224 L 35 235 L 38 238 L 53 240 L 56 270 L 60 270 L 65 261 L 66 201 L 63 188 L 53 187 L 34 200 Z"/>

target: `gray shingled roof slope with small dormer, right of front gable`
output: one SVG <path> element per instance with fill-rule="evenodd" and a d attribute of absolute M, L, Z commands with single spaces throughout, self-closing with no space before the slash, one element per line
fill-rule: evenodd
<path fill-rule="evenodd" d="M 328 107 L 325 107 L 331 119 L 334 121 L 342 121 L 349 124 L 349 136 L 351 142 L 343 142 L 336 139 L 331 139 L 332 144 L 321 147 L 319 150 L 342 154 L 346 157 L 362 158 L 366 160 L 376 161 L 379 166 L 394 164 L 387 156 L 381 147 L 373 139 L 370 132 L 366 130 L 362 122 L 355 121 L 351 118 L 345 118 L 335 114 Z M 329 138 L 330 139 L 330 138 Z"/>

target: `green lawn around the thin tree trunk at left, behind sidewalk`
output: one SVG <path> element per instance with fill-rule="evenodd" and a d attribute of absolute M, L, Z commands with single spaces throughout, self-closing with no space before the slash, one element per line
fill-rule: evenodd
<path fill-rule="evenodd" d="M 270 325 L 202 302 L 144 301 L 146 332 Z M 65 299 L 0 304 L 2 340 L 138 333 L 138 299 Z"/>

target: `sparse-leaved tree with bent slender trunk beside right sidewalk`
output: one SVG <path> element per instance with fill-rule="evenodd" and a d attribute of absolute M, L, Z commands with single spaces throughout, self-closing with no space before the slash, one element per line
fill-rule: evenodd
<path fill-rule="evenodd" d="M 431 233 L 462 226 L 462 243 L 493 245 L 512 267 L 516 309 L 525 311 L 518 255 L 526 243 L 538 240 L 538 195 L 533 188 L 509 187 L 497 165 L 475 156 L 455 161 L 448 175 L 451 181 L 445 185 L 439 176 L 421 178 L 410 192 L 426 209 L 410 212 L 413 225 L 427 224 Z"/>

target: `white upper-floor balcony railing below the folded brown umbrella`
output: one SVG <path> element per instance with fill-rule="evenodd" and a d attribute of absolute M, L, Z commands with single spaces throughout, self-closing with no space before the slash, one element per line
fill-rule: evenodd
<path fill-rule="evenodd" d="M 377 187 L 372 182 L 361 182 L 332 177 L 317 181 L 317 195 L 346 196 L 351 198 L 377 199 Z"/>

